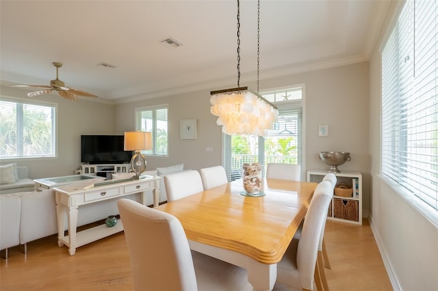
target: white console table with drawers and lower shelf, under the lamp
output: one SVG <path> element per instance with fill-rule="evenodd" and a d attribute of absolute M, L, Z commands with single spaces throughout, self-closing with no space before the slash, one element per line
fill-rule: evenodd
<path fill-rule="evenodd" d="M 110 184 L 100 186 L 94 186 L 94 183 L 75 183 L 55 187 L 57 244 L 60 247 L 66 245 L 70 255 L 74 255 L 77 247 L 121 232 L 123 223 L 120 220 L 114 227 L 107 227 L 103 224 L 77 232 L 77 215 L 80 215 L 80 206 L 120 198 L 133 193 L 142 193 L 141 203 L 145 205 L 146 191 L 153 190 L 153 205 L 156 207 L 159 203 L 159 179 L 157 176 L 146 176 L 140 180 L 110 182 Z M 64 236 L 66 217 L 68 219 L 68 236 Z"/>

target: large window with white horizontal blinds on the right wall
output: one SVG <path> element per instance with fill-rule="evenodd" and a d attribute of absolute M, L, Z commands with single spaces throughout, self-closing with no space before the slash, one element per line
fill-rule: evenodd
<path fill-rule="evenodd" d="M 438 210 L 438 1 L 406 1 L 382 52 L 382 174 Z"/>

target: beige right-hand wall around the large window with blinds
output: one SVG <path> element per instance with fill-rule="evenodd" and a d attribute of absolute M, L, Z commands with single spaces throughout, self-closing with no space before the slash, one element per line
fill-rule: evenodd
<path fill-rule="evenodd" d="M 370 60 L 370 156 L 372 230 L 395 290 L 438 290 L 438 229 L 391 188 L 380 173 L 381 54 L 378 51 L 396 2 L 389 6 Z"/>

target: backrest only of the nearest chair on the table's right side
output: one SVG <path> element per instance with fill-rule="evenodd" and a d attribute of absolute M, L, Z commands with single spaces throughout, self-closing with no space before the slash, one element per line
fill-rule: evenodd
<path fill-rule="evenodd" d="M 322 181 L 316 186 L 315 192 L 307 210 L 301 237 L 296 253 L 296 265 L 302 288 L 313 290 L 316 258 L 322 227 L 327 219 L 327 209 L 333 189 L 329 181 Z"/>

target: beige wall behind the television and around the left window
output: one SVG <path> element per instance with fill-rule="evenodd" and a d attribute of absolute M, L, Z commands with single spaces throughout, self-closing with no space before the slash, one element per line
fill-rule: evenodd
<path fill-rule="evenodd" d="M 26 99 L 23 89 L 1 87 L 1 96 Z M 81 135 L 116 134 L 114 132 L 114 105 L 107 102 L 77 102 L 57 94 L 32 97 L 33 100 L 57 104 L 57 157 L 16 158 L 2 160 L 1 164 L 17 163 L 29 167 L 29 177 L 47 178 L 75 174 L 81 165 Z M 120 133 L 117 133 L 120 134 Z M 122 133 L 123 134 L 123 133 Z"/>

